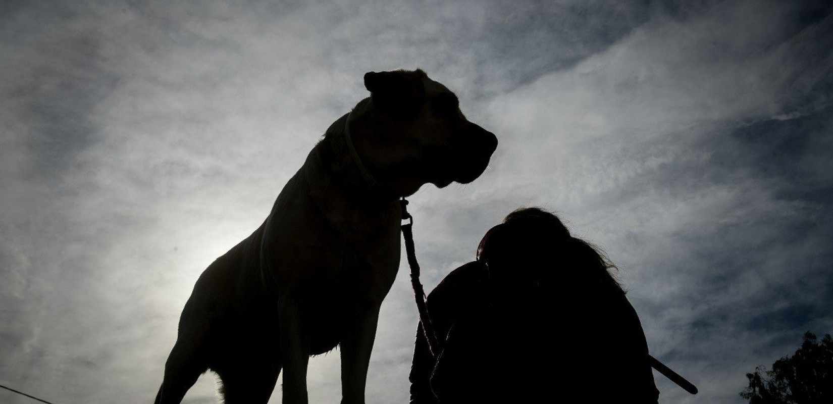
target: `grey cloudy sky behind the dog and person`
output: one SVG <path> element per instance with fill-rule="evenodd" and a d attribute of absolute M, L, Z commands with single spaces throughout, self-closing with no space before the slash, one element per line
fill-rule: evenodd
<path fill-rule="evenodd" d="M 152 402 L 197 276 L 367 97 L 365 72 L 421 67 L 501 142 L 476 182 L 411 198 L 426 287 L 507 212 L 546 207 L 618 264 L 651 352 L 700 387 L 655 374 L 661 402 L 742 402 L 746 372 L 833 332 L 831 12 L 3 1 L 0 383 Z M 382 306 L 369 403 L 407 402 L 406 271 Z M 337 402 L 338 365 L 312 360 L 311 402 Z M 185 402 L 214 392 L 207 374 Z"/>

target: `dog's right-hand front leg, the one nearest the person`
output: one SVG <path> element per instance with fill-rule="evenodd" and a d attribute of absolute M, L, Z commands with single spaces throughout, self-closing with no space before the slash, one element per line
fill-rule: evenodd
<path fill-rule="evenodd" d="M 368 303 L 342 338 L 342 404 L 365 402 L 367 366 L 376 339 L 379 307 Z"/>

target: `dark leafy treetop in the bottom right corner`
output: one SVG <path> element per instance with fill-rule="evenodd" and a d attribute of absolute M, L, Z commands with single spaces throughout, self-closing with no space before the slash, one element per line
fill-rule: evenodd
<path fill-rule="evenodd" d="M 756 367 L 746 373 L 749 387 L 741 397 L 749 404 L 830 404 L 833 402 L 833 339 L 826 334 L 817 342 L 806 332 L 804 343 L 792 357 L 772 364 L 772 370 Z"/>

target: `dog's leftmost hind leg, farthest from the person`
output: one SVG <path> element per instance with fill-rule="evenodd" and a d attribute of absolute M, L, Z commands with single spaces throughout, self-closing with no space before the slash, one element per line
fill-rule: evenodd
<path fill-rule="evenodd" d="M 179 404 L 197 377 L 208 369 L 202 362 L 197 347 L 182 339 L 177 340 L 165 362 L 165 376 L 154 404 Z"/>

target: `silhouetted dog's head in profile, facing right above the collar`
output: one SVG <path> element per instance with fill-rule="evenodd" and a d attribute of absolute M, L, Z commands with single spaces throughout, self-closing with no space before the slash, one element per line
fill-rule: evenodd
<path fill-rule="evenodd" d="M 402 196 L 422 184 L 468 183 L 486 170 L 497 138 L 468 122 L 456 95 L 425 72 L 368 72 L 371 97 L 353 110 L 357 151 L 383 186 Z"/>

